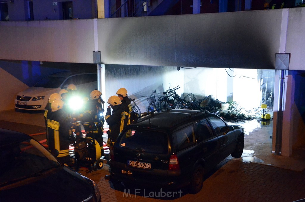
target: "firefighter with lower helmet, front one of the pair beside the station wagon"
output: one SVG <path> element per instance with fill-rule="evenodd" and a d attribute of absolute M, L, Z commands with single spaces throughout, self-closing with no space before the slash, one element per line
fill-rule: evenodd
<path fill-rule="evenodd" d="M 122 102 L 118 96 L 110 96 L 107 103 L 109 104 L 105 116 L 105 120 L 107 124 L 109 124 L 109 130 L 107 131 L 107 146 L 109 147 L 109 150 L 111 150 L 117 136 L 124 128 L 124 120 L 126 116 Z M 110 175 L 105 175 L 105 179 L 110 179 Z"/>

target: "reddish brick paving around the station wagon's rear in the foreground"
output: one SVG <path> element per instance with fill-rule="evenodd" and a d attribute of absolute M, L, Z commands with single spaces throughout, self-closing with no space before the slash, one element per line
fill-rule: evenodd
<path fill-rule="evenodd" d="M 226 159 L 211 171 L 202 190 L 125 187 L 123 183 L 105 180 L 109 165 L 86 174 L 97 182 L 102 201 L 274 201 L 292 202 L 305 198 L 305 171 L 292 171 L 264 164 Z"/>

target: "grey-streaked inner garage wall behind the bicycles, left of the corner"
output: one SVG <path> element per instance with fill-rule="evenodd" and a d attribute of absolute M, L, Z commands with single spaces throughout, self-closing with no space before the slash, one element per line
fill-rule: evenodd
<path fill-rule="evenodd" d="M 135 98 L 143 113 L 146 112 L 148 102 L 146 97 L 141 96 L 149 96 L 156 90 L 154 95 L 157 100 L 163 96 L 162 92 L 178 85 L 180 89 L 177 93 L 180 96 L 184 91 L 183 75 L 184 71 L 177 71 L 177 67 L 105 65 L 106 93 L 102 92 L 103 99 L 107 101 L 119 88 L 126 88 L 129 98 Z"/>

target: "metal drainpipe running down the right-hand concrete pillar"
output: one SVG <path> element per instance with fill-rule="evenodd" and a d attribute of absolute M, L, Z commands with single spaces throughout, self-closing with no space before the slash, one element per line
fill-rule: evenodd
<path fill-rule="evenodd" d="M 274 155 L 281 155 L 282 152 L 282 127 L 283 127 L 283 90 L 284 90 L 284 71 L 280 70 L 279 79 L 279 96 L 278 96 L 278 115 L 276 121 L 276 135 L 275 135 L 275 151 Z"/>

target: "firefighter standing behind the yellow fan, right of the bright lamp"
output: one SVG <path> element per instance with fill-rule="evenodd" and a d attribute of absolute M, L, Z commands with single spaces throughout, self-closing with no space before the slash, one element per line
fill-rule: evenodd
<path fill-rule="evenodd" d="M 105 103 L 101 98 L 102 93 L 99 90 L 94 90 L 90 93 L 90 100 L 86 103 L 85 110 L 79 116 L 79 120 L 83 122 L 90 122 L 90 124 L 83 123 L 86 136 L 96 139 L 101 146 L 102 154 L 104 156 L 104 115 L 102 104 Z"/>

